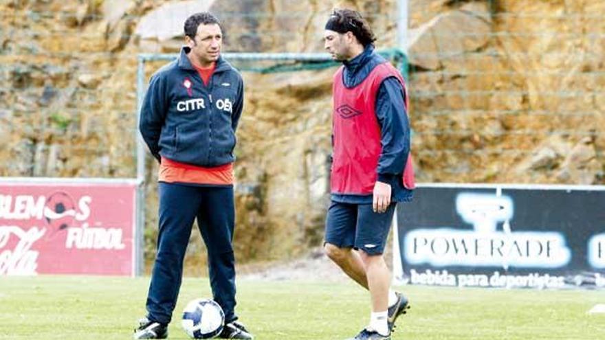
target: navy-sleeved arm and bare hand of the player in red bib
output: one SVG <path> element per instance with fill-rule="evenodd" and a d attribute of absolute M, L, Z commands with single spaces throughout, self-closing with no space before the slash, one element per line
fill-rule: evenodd
<path fill-rule="evenodd" d="M 374 186 L 374 209 L 384 212 L 391 204 L 391 183 L 404 172 L 410 152 L 410 125 L 404 88 L 395 77 L 386 78 L 376 96 L 376 117 L 381 130 L 382 152 Z"/>

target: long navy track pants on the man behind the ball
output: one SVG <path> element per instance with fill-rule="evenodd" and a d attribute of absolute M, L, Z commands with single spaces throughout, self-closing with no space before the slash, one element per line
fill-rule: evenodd
<path fill-rule="evenodd" d="M 148 319 L 168 324 L 177 304 L 183 260 L 195 218 L 208 249 L 212 295 L 225 312 L 225 322 L 237 319 L 234 202 L 232 187 L 202 187 L 160 182 L 157 254 L 147 295 Z"/>

